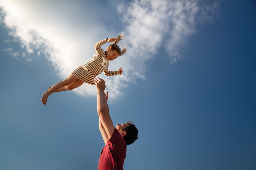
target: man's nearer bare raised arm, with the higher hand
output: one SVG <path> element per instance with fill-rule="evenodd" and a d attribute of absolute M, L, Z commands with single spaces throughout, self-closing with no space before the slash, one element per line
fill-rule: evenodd
<path fill-rule="evenodd" d="M 114 125 L 113 122 L 110 118 L 109 115 L 109 109 L 108 109 L 108 103 L 107 100 L 105 98 L 105 81 L 99 77 L 94 79 L 94 82 L 96 84 L 96 88 L 97 88 L 97 93 L 98 93 L 98 98 L 97 98 L 97 110 L 98 110 L 98 115 L 100 118 L 100 121 L 103 125 L 103 128 L 105 129 L 108 138 L 110 139 L 113 132 L 114 132 Z M 102 135 L 103 139 L 104 136 Z M 104 139 L 105 141 L 105 139 Z"/>

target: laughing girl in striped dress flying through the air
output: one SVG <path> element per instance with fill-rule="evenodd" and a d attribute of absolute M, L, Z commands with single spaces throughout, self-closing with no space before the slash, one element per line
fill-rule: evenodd
<path fill-rule="evenodd" d="M 116 59 L 118 56 L 123 55 L 127 52 L 127 48 L 124 48 L 121 51 L 117 43 L 123 39 L 123 34 L 118 36 L 116 39 L 105 39 L 97 42 L 94 45 L 96 53 L 93 55 L 92 59 L 88 61 L 84 65 L 78 66 L 69 76 L 63 81 L 60 81 L 48 88 L 48 91 L 44 92 L 42 95 L 42 102 L 46 105 L 47 98 L 53 92 L 60 92 L 66 90 L 73 90 L 81 86 L 83 83 L 89 83 L 95 85 L 94 78 L 104 71 L 106 76 L 113 76 L 122 74 L 122 68 L 119 68 L 118 71 L 108 71 L 109 62 L 111 60 Z M 114 42 L 111 43 L 106 51 L 104 51 L 100 46 L 105 44 L 106 42 Z"/>

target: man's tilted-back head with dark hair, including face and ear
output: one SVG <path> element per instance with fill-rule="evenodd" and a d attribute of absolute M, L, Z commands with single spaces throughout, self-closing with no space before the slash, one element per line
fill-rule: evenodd
<path fill-rule="evenodd" d="M 125 139 L 127 145 L 132 144 L 136 139 L 138 139 L 138 129 L 131 121 L 122 125 L 117 124 L 116 129 Z"/>

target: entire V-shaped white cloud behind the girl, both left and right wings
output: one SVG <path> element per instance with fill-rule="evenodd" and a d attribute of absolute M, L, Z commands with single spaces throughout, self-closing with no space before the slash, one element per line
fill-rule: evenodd
<path fill-rule="evenodd" d="M 198 32 L 199 26 L 214 20 L 218 4 L 204 4 L 196 0 L 118 1 L 116 10 L 123 20 L 117 24 L 122 24 L 124 30 L 116 33 L 107 30 L 107 27 L 99 22 L 98 16 L 93 18 L 94 16 L 88 15 L 90 18 L 87 17 L 86 22 L 79 23 L 78 20 L 74 24 L 74 19 L 86 16 L 85 11 L 92 10 L 89 7 L 88 10 L 77 10 L 80 6 L 78 1 L 72 2 L 72 5 L 63 5 L 56 11 L 57 4 L 48 5 L 44 1 L 1 1 L 1 22 L 8 28 L 13 40 L 19 42 L 22 47 L 22 51 L 15 51 L 13 48 L 6 50 L 12 56 L 23 56 L 27 61 L 32 61 L 35 56 L 46 57 L 58 76 L 63 79 L 78 65 L 91 59 L 94 43 L 110 38 L 105 37 L 110 35 L 110 32 L 111 35 L 118 36 L 125 31 L 121 45 L 127 46 L 128 52 L 110 62 L 110 70 L 121 67 L 124 69 L 123 75 L 100 75 L 106 80 L 106 90 L 111 91 L 110 98 L 115 99 L 122 94 L 125 87 L 137 79 L 146 78 L 144 74 L 149 69 L 147 63 L 154 61 L 155 56 L 161 54 L 160 48 L 166 49 L 170 64 L 182 59 L 184 44 Z M 104 9 L 104 6 L 99 8 Z M 69 13 L 67 16 L 67 11 L 73 11 L 74 14 Z M 78 15 L 79 11 L 83 11 L 82 14 Z M 82 25 L 78 27 L 76 24 Z M 56 82 L 52 84 L 54 83 Z M 92 85 L 85 84 L 75 91 L 80 95 L 95 95 L 95 87 Z"/>

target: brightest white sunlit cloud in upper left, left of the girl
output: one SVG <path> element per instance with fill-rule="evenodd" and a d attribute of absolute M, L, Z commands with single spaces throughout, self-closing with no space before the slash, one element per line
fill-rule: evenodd
<path fill-rule="evenodd" d="M 94 43 L 103 37 L 100 30 L 104 32 L 105 28 L 89 17 L 93 9 L 79 3 L 70 1 L 65 5 L 57 1 L 1 0 L 0 7 L 6 15 L 2 22 L 9 35 L 14 37 L 13 41 L 19 42 L 24 49 L 20 56 L 25 61 L 33 60 L 35 55 L 32 54 L 46 57 L 58 76 L 64 79 L 78 65 L 91 59 L 95 53 Z M 80 25 L 72 25 L 72 22 Z M 18 53 L 10 54 L 18 58 Z M 91 95 L 91 91 L 95 93 L 95 86 L 85 86 L 82 87 L 82 95 Z"/>

